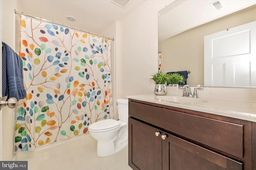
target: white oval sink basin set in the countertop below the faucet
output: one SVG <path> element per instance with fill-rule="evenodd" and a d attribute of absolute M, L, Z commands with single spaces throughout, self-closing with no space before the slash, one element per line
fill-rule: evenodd
<path fill-rule="evenodd" d="M 188 98 L 182 96 L 156 96 L 157 99 L 160 99 L 161 102 L 174 102 L 180 104 L 197 104 L 197 103 L 206 103 L 207 100 L 201 100 L 200 98 Z"/>

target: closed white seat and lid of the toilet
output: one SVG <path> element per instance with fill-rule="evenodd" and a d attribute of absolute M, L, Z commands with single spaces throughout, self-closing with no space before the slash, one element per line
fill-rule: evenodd
<path fill-rule="evenodd" d="M 106 119 L 92 123 L 88 129 L 90 132 L 106 132 L 117 129 L 120 127 L 120 123 L 114 119 Z"/>

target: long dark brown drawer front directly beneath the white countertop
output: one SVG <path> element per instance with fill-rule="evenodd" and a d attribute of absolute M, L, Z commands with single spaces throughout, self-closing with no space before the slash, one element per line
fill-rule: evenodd
<path fill-rule="evenodd" d="M 243 125 L 129 102 L 129 116 L 243 158 Z"/>

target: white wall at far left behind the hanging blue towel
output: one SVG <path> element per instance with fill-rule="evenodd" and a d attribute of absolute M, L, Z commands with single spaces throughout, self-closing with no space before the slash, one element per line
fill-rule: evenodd
<path fill-rule="evenodd" d="M 14 39 L 14 9 L 17 8 L 17 0 L 2 0 L 2 41 L 15 49 Z M 16 51 L 17 53 L 18 51 Z M 2 66 L 2 65 L 1 65 Z M 2 68 L 1 68 L 2 70 Z M 2 83 L 1 83 L 2 84 Z M 2 160 L 12 160 L 14 141 L 14 109 L 7 106 L 2 108 Z"/>

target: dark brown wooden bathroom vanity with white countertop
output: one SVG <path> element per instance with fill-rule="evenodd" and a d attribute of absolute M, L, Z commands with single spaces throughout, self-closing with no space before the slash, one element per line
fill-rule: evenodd
<path fill-rule="evenodd" d="M 246 115 L 214 110 L 212 101 L 182 104 L 156 97 L 128 96 L 133 170 L 256 170 L 256 119 L 250 117 L 255 103 L 237 104 L 252 112 Z"/>

